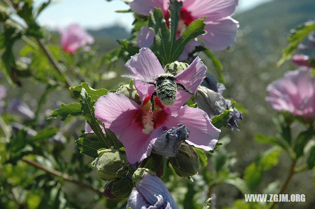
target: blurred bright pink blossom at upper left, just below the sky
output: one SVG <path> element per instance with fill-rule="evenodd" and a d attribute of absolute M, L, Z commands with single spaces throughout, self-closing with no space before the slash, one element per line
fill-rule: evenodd
<path fill-rule="evenodd" d="M 71 24 L 67 30 L 59 29 L 63 51 L 74 54 L 81 47 L 93 44 L 94 38 L 77 24 Z"/>

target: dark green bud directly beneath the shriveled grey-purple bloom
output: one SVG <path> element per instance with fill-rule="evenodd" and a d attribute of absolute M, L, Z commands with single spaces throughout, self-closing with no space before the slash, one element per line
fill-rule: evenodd
<path fill-rule="evenodd" d="M 191 177 L 199 171 L 199 155 L 187 144 L 182 144 L 179 153 L 169 158 L 169 162 L 180 177 Z"/>

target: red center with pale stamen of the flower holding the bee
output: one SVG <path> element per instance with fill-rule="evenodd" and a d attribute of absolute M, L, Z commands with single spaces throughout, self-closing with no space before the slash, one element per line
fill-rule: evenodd
<path fill-rule="evenodd" d="M 156 127 L 163 125 L 167 119 L 167 113 L 164 111 L 164 105 L 160 102 L 156 96 L 154 99 L 154 111 L 150 112 L 150 96 L 146 97 L 142 103 L 142 107 L 137 110 L 134 119 L 143 129 L 142 132 L 150 134 Z"/>

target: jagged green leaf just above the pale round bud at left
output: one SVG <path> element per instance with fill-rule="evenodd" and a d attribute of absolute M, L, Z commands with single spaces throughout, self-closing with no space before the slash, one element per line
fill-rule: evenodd
<path fill-rule="evenodd" d="M 76 146 L 80 149 L 81 154 L 89 155 L 90 157 L 98 157 L 97 150 L 107 148 L 105 143 L 93 141 L 86 138 L 79 138 L 75 141 Z"/>

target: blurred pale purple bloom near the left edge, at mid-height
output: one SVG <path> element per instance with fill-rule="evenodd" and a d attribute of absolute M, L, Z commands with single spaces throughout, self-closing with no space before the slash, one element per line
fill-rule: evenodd
<path fill-rule="evenodd" d="M 27 120 L 35 118 L 35 114 L 31 108 L 19 98 L 15 98 L 10 102 L 7 112 Z"/>

